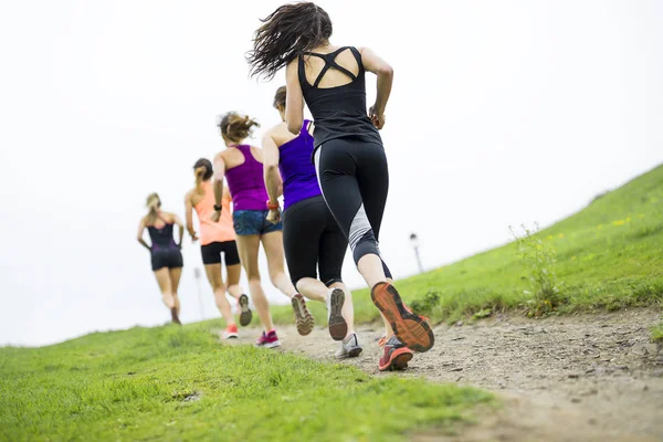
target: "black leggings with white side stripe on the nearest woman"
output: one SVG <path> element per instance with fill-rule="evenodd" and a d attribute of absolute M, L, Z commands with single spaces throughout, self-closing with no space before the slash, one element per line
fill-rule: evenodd
<path fill-rule="evenodd" d="M 367 254 L 380 256 L 378 239 L 389 191 L 382 145 L 336 138 L 319 146 L 314 158 L 323 196 L 348 239 L 355 263 Z M 383 261 L 382 266 L 391 277 Z"/>

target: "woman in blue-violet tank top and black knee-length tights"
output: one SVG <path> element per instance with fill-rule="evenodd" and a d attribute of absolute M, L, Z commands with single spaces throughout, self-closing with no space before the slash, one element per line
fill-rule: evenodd
<path fill-rule="evenodd" d="M 285 86 L 276 91 L 274 107 L 285 120 Z M 327 305 L 329 334 L 341 340 L 336 357 L 356 357 L 361 346 L 354 329 L 352 298 L 340 275 L 348 241 L 325 204 L 311 162 L 309 125 L 305 120 L 298 135 L 291 134 L 285 123 L 267 130 L 263 137 L 265 183 L 270 201 L 277 206 L 283 179 L 283 242 L 293 284 L 307 298 Z M 280 218 L 275 209 L 267 220 L 278 222 Z"/>

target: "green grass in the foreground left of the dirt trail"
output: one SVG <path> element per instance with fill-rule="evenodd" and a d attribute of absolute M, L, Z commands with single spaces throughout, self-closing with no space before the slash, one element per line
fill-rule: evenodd
<path fill-rule="evenodd" d="M 221 346 L 209 327 L 0 348 L 0 440 L 391 441 L 461 425 L 493 402 L 472 388 Z"/>

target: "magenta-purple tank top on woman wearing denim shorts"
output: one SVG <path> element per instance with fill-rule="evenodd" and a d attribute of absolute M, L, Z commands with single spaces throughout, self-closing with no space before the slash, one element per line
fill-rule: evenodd
<path fill-rule="evenodd" d="M 263 167 L 251 154 L 251 146 L 235 146 L 244 162 L 225 171 L 234 210 L 267 210 Z"/>

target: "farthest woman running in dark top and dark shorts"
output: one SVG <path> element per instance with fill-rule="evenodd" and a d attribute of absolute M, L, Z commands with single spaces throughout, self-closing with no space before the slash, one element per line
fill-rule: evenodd
<path fill-rule="evenodd" d="M 185 227 L 178 215 L 161 211 L 161 200 L 157 193 L 147 197 L 147 207 L 149 212 L 140 219 L 140 224 L 138 225 L 138 242 L 150 251 L 152 272 L 155 272 L 157 283 L 159 283 L 164 304 L 170 311 L 172 322 L 180 324 L 180 302 L 177 296 L 177 287 L 179 286 L 183 266 L 180 249 Z M 179 227 L 178 243 L 172 238 L 172 228 L 175 224 Z M 143 239 L 146 228 L 151 240 L 151 245 L 148 245 Z"/>

